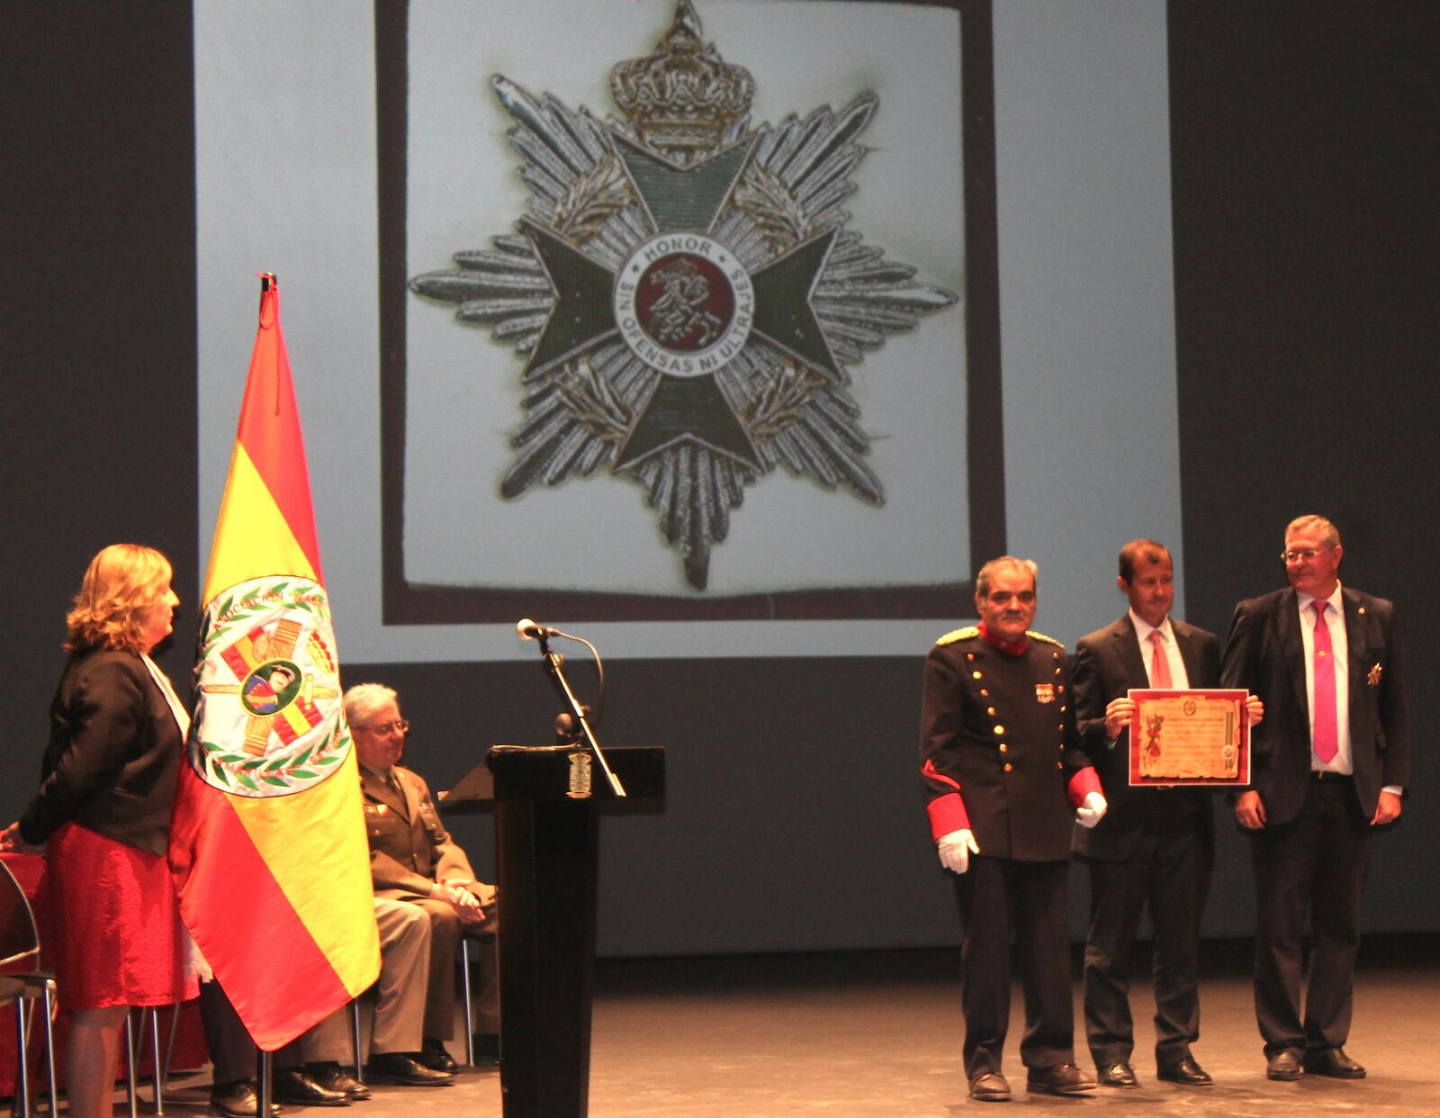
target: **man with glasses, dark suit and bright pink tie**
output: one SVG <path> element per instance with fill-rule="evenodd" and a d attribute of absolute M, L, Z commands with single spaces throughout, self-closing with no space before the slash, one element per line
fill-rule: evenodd
<path fill-rule="evenodd" d="M 1256 1014 L 1266 1075 L 1359 1079 L 1344 1049 L 1359 900 L 1375 827 L 1400 818 L 1410 781 L 1405 656 L 1395 608 L 1341 586 L 1339 532 L 1320 516 L 1284 530 L 1290 589 L 1236 607 L 1221 680 L 1267 717 L 1236 818 L 1256 870 Z M 1300 1017 L 1302 935 L 1310 974 Z"/>

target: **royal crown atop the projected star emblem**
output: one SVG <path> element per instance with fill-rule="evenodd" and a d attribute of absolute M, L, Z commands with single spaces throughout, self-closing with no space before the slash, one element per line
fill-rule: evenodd
<path fill-rule="evenodd" d="M 645 144 L 685 163 L 713 151 L 750 111 L 755 78 L 701 42 L 700 17 L 680 0 L 655 52 L 611 71 L 611 94 Z"/>

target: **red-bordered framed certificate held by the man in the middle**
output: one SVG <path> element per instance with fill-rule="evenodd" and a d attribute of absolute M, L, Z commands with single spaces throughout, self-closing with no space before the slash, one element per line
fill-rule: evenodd
<path fill-rule="evenodd" d="M 1246 690 L 1132 689 L 1130 785 L 1250 784 Z"/>

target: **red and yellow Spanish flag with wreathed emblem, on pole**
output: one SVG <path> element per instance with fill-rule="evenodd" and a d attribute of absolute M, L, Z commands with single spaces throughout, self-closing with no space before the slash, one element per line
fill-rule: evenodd
<path fill-rule="evenodd" d="M 202 592 L 170 831 L 180 913 L 272 1052 L 380 972 L 370 851 L 275 277 Z"/>

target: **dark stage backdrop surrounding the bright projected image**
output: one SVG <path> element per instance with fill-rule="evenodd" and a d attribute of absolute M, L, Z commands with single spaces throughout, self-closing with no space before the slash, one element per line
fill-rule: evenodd
<path fill-rule="evenodd" d="M 1418 759 L 1405 820 L 1377 847 L 1367 924 L 1436 931 L 1426 756 L 1440 663 L 1427 634 L 1440 605 L 1418 571 L 1436 545 L 1440 465 L 1436 9 L 1178 3 L 1168 14 L 1187 612 L 1223 632 L 1237 598 L 1279 585 L 1289 516 L 1341 523 L 1346 579 L 1403 609 Z M 60 617 L 89 555 L 124 537 L 160 546 L 177 565 L 180 632 L 194 621 L 196 540 L 209 535 L 197 490 L 219 480 L 197 481 L 193 76 L 181 4 L 6 10 L 6 820 L 36 778 Z M 1058 517 L 1103 494 L 1060 484 L 1051 500 Z M 1119 607 L 1096 586 L 1093 624 Z M 608 666 L 603 739 L 665 745 L 670 797 L 664 814 L 603 827 L 602 951 L 955 936 L 912 768 L 924 650 L 854 651 Z M 163 660 L 183 680 L 189 641 Z M 554 713 L 537 663 L 347 663 L 346 677 L 400 689 L 413 761 L 436 787 L 492 741 L 544 741 Z M 456 828 L 487 863 L 487 820 Z M 1210 934 L 1251 931 L 1243 860 L 1221 827 Z"/>

